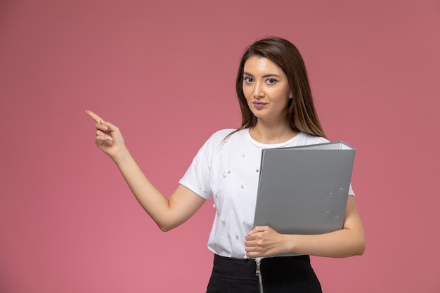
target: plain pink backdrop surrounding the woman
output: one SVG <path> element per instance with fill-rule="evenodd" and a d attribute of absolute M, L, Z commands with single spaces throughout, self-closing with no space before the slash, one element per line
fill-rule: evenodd
<path fill-rule="evenodd" d="M 438 0 L 1 0 L 0 292 L 205 292 L 212 202 L 160 232 L 84 110 L 169 195 L 239 126 L 238 61 L 268 35 L 298 46 L 325 131 L 357 148 L 367 249 L 313 257 L 324 292 L 440 292 Z"/>

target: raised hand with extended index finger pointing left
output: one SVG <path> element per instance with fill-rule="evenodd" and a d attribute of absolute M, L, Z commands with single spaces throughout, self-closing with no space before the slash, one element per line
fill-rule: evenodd
<path fill-rule="evenodd" d="M 89 115 L 96 122 L 96 138 L 95 143 L 105 154 L 112 159 L 115 159 L 121 151 L 127 150 L 124 138 L 117 126 L 110 122 L 105 122 L 101 117 L 96 115 L 91 110 L 86 110 Z"/>

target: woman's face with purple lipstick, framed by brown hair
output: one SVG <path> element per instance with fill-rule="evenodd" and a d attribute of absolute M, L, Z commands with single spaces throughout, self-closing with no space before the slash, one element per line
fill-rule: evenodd
<path fill-rule="evenodd" d="M 248 58 L 243 67 L 242 87 L 255 117 L 266 122 L 284 122 L 292 93 L 287 76 L 280 67 L 268 58 Z"/>

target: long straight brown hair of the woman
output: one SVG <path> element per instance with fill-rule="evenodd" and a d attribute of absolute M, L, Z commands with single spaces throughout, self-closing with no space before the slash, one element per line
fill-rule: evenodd
<path fill-rule="evenodd" d="M 268 58 L 286 74 L 293 94 L 293 98 L 287 104 L 287 121 L 290 128 L 313 136 L 325 137 L 315 105 L 313 105 L 309 78 L 302 56 L 294 44 L 280 37 L 268 37 L 256 41 L 247 48 L 241 58 L 235 82 L 242 115 L 241 127 L 238 130 L 251 128 L 257 124 L 257 117 L 252 114 L 247 105 L 242 88 L 243 68 L 246 60 L 252 56 Z"/>

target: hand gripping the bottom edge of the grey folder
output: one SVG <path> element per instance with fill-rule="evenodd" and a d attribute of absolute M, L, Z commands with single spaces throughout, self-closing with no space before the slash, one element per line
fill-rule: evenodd
<path fill-rule="evenodd" d="M 263 257 L 285 251 L 285 236 L 268 226 L 256 226 L 246 236 L 245 247 L 248 257 Z"/>

